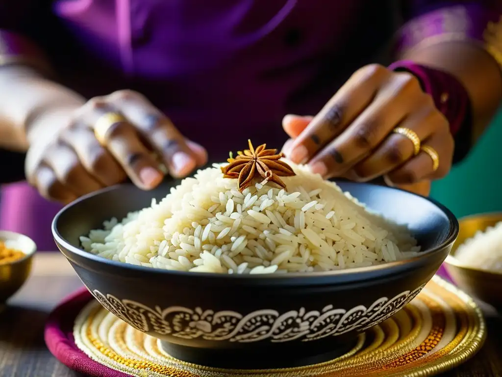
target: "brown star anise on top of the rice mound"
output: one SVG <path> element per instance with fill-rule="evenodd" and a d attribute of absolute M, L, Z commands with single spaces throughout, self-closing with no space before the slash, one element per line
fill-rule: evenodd
<path fill-rule="evenodd" d="M 280 177 L 296 175 L 291 166 L 281 161 L 283 153 L 277 153 L 277 149 L 266 149 L 267 145 L 262 144 L 254 148 L 250 140 L 249 149 L 237 152 L 237 156 L 227 159 L 228 165 L 221 168 L 223 177 L 237 178 L 237 185 L 240 192 L 253 184 L 255 179 L 261 176 L 269 182 L 274 182 L 286 190 L 286 184 Z"/>

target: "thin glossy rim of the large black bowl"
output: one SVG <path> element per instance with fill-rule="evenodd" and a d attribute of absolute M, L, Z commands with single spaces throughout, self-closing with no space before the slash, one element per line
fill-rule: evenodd
<path fill-rule="evenodd" d="M 58 219 L 69 208 L 71 208 L 71 207 L 75 206 L 76 204 L 83 202 L 89 198 L 92 198 L 94 196 L 98 196 L 98 195 L 106 193 L 108 191 L 115 190 L 118 187 L 121 187 L 124 185 L 131 186 L 132 184 L 130 184 L 130 183 L 129 184 L 128 183 L 117 184 L 117 185 L 105 187 L 104 189 L 101 189 L 101 190 L 95 191 L 93 193 L 84 195 L 84 196 L 78 198 L 77 200 L 71 202 L 70 204 L 63 207 L 56 214 L 56 216 L 54 217 L 52 224 L 51 224 L 51 230 L 52 230 L 54 240 L 56 241 L 56 244 L 58 246 L 63 247 L 64 249 L 66 249 L 67 251 L 69 251 L 72 254 L 76 254 L 76 255 L 78 255 L 82 258 L 85 258 L 85 259 L 90 259 L 90 260 L 97 262 L 97 263 L 107 264 L 107 265 L 111 265 L 111 266 L 118 267 L 118 268 L 127 268 L 127 269 L 137 271 L 137 272 L 148 272 L 149 274 L 167 274 L 167 275 L 178 275 L 178 276 L 181 275 L 181 276 L 185 276 L 185 277 L 192 276 L 194 278 L 195 277 L 220 278 L 220 279 L 221 278 L 227 278 L 227 279 L 250 279 L 250 278 L 252 278 L 252 279 L 256 279 L 256 280 L 263 279 L 263 278 L 267 278 L 267 279 L 269 279 L 269 278 L 273 278 L 273 279 L 286 279 L 286 278 L 288 278 L 288 279 L 290 279 L 290 278 L 315 279 L 315 278 L 319 278 L 319 277 L 342 276 L 342 275 L 355 277 L 357 275 L 367 274 L 368 272 L 378 272 L 378 271 L 385 271 L 385 270 L 392 271 L 396 267 L 399 267 L 399 266 L 403 267 L 406 264 L 411 265 L 414 262 L 417 262 L 424 257 L 430 256 L 432 254 L 435 254 L 435 253 L 443 250 L 445 247 L 449 246 L 450 244 L 453 244 L 458 236 L 459 224 L 458 224 L 458 220 L 455 217 L 455 215 L 448 208 L 446 208 L 444 205 L 442 205 L 441 203 L 439 203 L 438 201 L 436 201 L 432 198 L 428 198 L 428 197 L 425 197 L 425 196 L 422 196 L 419 194 L 411 193 L 409 191 L 399 189 L 398 187 L 381 186 L 381 185 L 377 185 L 374 183 L 367 183 L 367 182 L 359 183 L 359 182 L 346 182 L 346 181 L 344 181 L 343 183 L 344 184 L 348 183 L 349 185 L 356 185 L 357 184 L 357 185 L 385 187 L 388 190 L 402 191 L 402 192 L 405 192 L 409 195 L 413 195 L 413 196 L 425 199 L 426 201 L 428 201 L 428 202 L 434 204 L 436 207 L 438 207 L 446 215 L 446 217 L 450 221 L 450 229 L 449 229 L 448 237 L 446 238 L 446 240 L 444 240 L 442 243 L 440 243 L 436 247 L 434 247 L 432 249 L 425 250 L 425 251 L 420 251 L 419 255 L 417 255 L 417 256 L 407 258 L 407 259 L 397 260 L 397 261 L 393 261 L 393 262 L 386 262 L 386 263 L 367 266 L 367 267 L 353 267 L 353 268 L 332 270 L 332 271 L 319 271 L 319 272 L 309 272 L 309 273 L 291 272 L 291 273 L 285 273 L 285 274 L 266 273 L 266 274 L 253 274 L 253 275 L 251 275 L 251 274 L 224 274 L 224 273 L 210 273 L 210 272 L 190 272 L 190 271 L 166 270 L 166 269 L 161 269 L 161 268 L 145 267 L 145 266 L 140 266 L 140 265 L 135 265 L 135 264 L 130 264 L 130 263 L 114 261 L 114 260 L 106 259 L 106 258 L 97 256 L 97 255 L 91 254 L 85 250 L 77 248 L 77 247 L 73 246 L 72 244 L 70 244 L 68 241 L 66 241 L 61 236 L 61 234 L 59 234 L 59 232 L 57 230 L 57 226 L 56 226 Z M 346 191 L 350 192 L 349 190 L 346 190 Z"/>

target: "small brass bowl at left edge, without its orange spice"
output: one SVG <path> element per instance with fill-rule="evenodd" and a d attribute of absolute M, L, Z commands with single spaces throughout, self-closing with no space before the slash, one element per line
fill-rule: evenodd
<path fill-rule="evenodd" d="M 0 230 L 0 241 L 11 241 L 13 247 L 25 253 L 21 259 L 0 264 L 0 305 L 5 303 L 25 284 L 30 275 L 37 245 L 23 234 Z"/>

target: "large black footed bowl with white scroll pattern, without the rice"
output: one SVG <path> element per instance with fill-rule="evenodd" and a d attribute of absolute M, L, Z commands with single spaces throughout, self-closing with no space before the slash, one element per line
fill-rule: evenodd
<path fill-rule="evenodd" d="M 172 182 L 171 184 L 174 184 Z M 286 275 L 167 271 L 103 259 L 79 236 L 160 199 L 169 185 L 132 185 L 83 197 L 55 217 L 52 231 L 94 297 L 174 357 L 207 366 L 275 368 L 324 361 L 351 348 L 358 332 L 409 303 L 448 255 L 458 233 L 440 204 L 384 186 L 340 183 L 369 208 L 408 224 L 424 250 L 409 260 Z"/>

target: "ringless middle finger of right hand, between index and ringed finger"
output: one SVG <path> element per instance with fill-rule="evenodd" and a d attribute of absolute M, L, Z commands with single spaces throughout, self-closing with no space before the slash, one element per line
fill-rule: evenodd
<path fill-rule="evenodd" d="M 379 93 L 374 101 L 336 139 L 310 161 L 312 171 L 324 177 L 340 176 L 374 149 L 413 108 L 425 98 L 418 80 L 403 76 L 392 90 Z M 424 101 L 424 100 L 422 100 Z"/>

